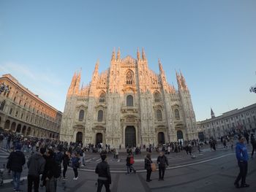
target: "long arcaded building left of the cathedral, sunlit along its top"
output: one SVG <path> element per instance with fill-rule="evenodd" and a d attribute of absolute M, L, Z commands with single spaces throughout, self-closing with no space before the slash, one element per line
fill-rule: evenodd
<path fill-rule="evenodd" d="M 0 94 L 0 128 L 4 131 L 40 138 L 59 138 L 62 113 L 51 107 L 11 74 L 0 77 L 10 92 Z"/>

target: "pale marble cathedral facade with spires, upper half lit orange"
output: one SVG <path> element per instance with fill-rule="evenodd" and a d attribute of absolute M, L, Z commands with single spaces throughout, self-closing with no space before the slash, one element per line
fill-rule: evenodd
<path fill-rule="evenodd" d="M 72 77 L 61 121 L 60 139 L 84 144 L 132 147 L 197 139 L 195 112 L 187 83 L 176 72 L 170 85 L 159 61 L 159 74 L 148 68 L 144 50 L 137 59 L 113 51 L 110 67 L 80 88 Z"/>

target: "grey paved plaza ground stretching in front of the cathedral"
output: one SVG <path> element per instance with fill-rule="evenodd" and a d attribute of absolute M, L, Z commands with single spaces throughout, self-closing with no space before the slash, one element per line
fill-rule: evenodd
<path fill-rule="evenodd" d="M 250 151 L 251 147 L 248 148 Z M 6 162 L 7 155 L 7 151 L 1 149 L 1 166 Z M 145 153 L 135 155 L 136 174 L 125 174 L 125 153 L 121 153 L 118 160 L 114 159 L 112 154 L 108 155 L 112 172 L 111 191 L 255 191 L 256 188 L 256 158 L 249 160 L 246 183 L 249 183 L 250 187 L 236 189 L 233 182 L 238 174 L 238 166 L 234 150 L 223 149 L 220 145 L 217 151 L 211 151 L 208 147 L 204 147 L 201 153 L 194 151 L 196 156 L 194 159 L 184 151 L 167 155 L 170 166 L 165 172 L 165 180 L 158 181 L 158 172 L 153 172 L 151 183 L 146 183 L 146 172 L 143 169 L 144 155 Z M 26 156 L 28 157 L 29 154 Z M 157 153 L 152 153 L 152 159 L 156 161 L 156 158 Z M 99 154 L 88 153 L 86 166 L 81 167 L 78 180 L 72 180 L 73 171 L 68 169 L 68 180 L 58 180 L 57 191 L 96 191 L 97 174 L 94 173 L 94 169 L 99 161 Z M 22 174 L 24 180 L 21 185 L 23 191 L 27 188 L 26 173 L 27 168 L 24 166 Z M 4 177 L 1 191 L 12 191 L 11 178 L 7 170 L 4 172 Z M 45 191 L 45 188 L 40 188 L 40 191 Z"/>

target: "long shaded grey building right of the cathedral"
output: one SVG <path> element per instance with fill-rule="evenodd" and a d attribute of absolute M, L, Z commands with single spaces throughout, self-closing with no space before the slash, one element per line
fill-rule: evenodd
<path fill-rule="evenodd" d="M 211 119 L 197 122 L 198 130 L 202 131 L 206 138 L 219 138 L 233 131 L 256 130 L 256 104 L 242 109 L 231 110 L 215 117 L 211 110 Z"/>

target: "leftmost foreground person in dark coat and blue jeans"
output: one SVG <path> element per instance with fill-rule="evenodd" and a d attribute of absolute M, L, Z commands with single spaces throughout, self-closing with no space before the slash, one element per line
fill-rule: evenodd
<path fill-rule="evenodd" d="M 12 180 L 13 180 L 14 190 L 17 192 L 21 191 L 20 190 L 20 174 L 22 172 L 22 166 L 26 163 L 25 155 L 20 150 L 21 150 L 21 145 L 16 144 L 15 151 L 10 153 L 10 156 L 7 162 L 7 169 L 10 169 L 12 171 Z"/>

